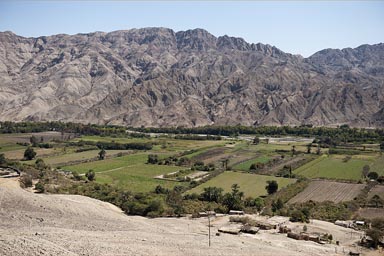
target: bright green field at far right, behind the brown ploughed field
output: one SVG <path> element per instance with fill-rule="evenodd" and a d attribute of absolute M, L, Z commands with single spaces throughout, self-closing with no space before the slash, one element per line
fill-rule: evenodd
<path fill-rule="evenodd" d="M 371 165 L 375 158 L 372 156 L 353 156 L 343 162 L 344 155 L 323 155 L 293 172 L 307 178 L 328 178 L 342 180 L 360 180 L 364 165 Z"/>

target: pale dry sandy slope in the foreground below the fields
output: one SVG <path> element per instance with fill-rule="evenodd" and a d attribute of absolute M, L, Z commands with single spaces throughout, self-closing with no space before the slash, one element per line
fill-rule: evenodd
<path fill-rule="evenodd" d="M 276 218 L 275 218 L 276 219 Z M 277 218 L 277 221 L 285 219 Z M 0 255 L 346 255 L 361 235 L 314 221 L 309 231 L 327 231 L 341 246 L 296 241 L 276 231 L 216 236 L 228 216 L 207 219 L 126 216 L 119 208 L 76 195 L 34 194 L 15 178 L 0 178 Z M 287 223 L 298 230 L 301 225 Z M 352 237 L 352 238 L 351 238 Z M 343 253 L 344 250 L 344 253 Z"/>

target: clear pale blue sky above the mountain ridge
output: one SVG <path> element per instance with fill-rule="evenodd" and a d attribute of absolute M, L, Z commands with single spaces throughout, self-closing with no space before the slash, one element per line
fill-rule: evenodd
<path fill-rule="evenodd" d="M 26 37 L 143 27 L 203 28 L 308 57 L 384 42 L 384 1 L 0 1 L 0 31 Z"/>

